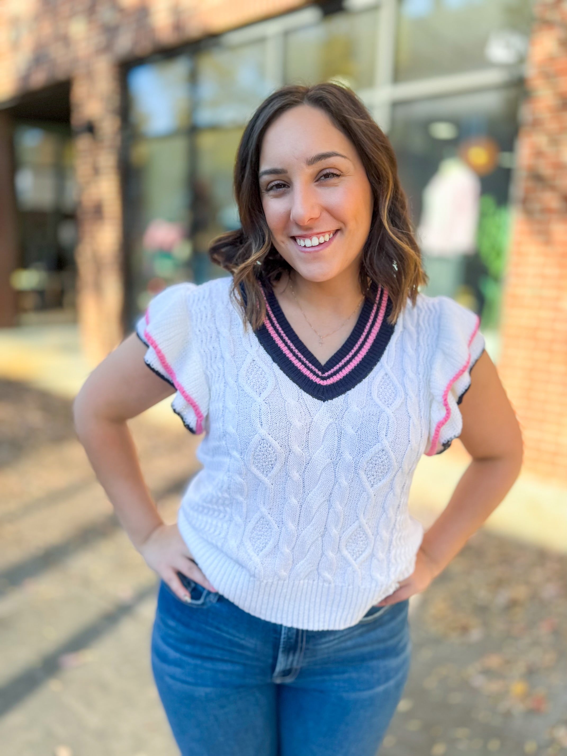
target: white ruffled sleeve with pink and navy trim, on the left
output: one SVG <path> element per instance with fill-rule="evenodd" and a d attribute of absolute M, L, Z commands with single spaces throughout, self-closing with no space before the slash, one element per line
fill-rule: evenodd
<path fill-rule="evenodd" d="M 147 346 L 144 362 L 176 390 L 172 410 L 191 433 L 202 433 L 209 386 L 191 329 L 194 283 L 175 283 L 157 294 L 136 323 Z"/>

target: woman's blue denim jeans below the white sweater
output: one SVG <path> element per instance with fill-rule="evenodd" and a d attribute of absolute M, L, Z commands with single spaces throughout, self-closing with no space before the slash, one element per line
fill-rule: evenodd
<path fill-rule="evenodd" d="M 407 601 L 305 631 L 180 578 L 192 603 L 160 584 L 152 668 L 182 756 L 375 756 L 407 678 Z"/>

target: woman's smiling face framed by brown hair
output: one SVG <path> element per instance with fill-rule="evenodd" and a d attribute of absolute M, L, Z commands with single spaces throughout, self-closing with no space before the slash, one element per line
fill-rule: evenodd
<path fill-rule="evenodd" d="M 259 183 L 274 246 L 299 275 L 322 282 L 353 266 L 358 273 L 372 188 L 354 144 L 326 113 L 299 105 L 269 126 Z"/>

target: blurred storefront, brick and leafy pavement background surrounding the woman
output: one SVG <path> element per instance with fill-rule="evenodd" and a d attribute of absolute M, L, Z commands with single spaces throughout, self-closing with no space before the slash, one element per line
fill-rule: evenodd
<path fill-rule="evenodd" d="M 522 423 L 504 503 L 412 602 L 381 753 L 567 754 L 567 0 L 0 5 L 0 741 L 175 754 L 149 669 L 155 576 L 70 403 L 150 298 L 224 271 L 234 155 L 274 88 L 334 80 L 389 135 L 429 285 L 476 311 Z M 196 471 L 166 402 L 131 423 L 175 519 Z M 423 460 L 431 522 L 467 463 Z"/>

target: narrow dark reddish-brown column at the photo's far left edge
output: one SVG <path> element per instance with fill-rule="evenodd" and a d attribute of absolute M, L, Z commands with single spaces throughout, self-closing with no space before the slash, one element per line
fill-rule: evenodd
<path fill-rule="evenodd" d="M 0 113 L 0 327 L 16 324 L 16 293 L 10 274 L 17 260 L 12 124 L 7 113 Z"/>

